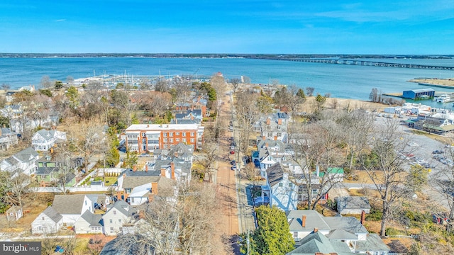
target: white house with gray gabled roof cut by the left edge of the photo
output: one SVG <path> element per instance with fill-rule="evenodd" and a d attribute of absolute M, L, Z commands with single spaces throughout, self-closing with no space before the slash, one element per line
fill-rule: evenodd
<path fill-rule="evenodd" d="M 0 168 L 3 171 L 21 172 L 28 176 L 36 173 L 35 162 L 39 159 L 38 152 L 31 147 L 23 149 L 21 152 L 0 162 Z"/>

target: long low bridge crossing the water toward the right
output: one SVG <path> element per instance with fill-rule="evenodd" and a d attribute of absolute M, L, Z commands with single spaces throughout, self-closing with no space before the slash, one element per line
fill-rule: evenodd
<path fill-rule="evenodd" d="M 323 64 L 353 64 L 367 67 L 400 67 L 400 68 L 414 68 L 414 69 L 434 69 L 453 71 L 454 67 L 441 67 L 428 64 L 403 64 L 403 63 L 390 63 L 390 62 L 377 62 L 369 60 L 343 60 L 343 59 L 315 59 L 315 58 L 272 58 L 271 60 L 286 60 L 293 62 L 308 62 L 308 63 L 323 63 Z"/>

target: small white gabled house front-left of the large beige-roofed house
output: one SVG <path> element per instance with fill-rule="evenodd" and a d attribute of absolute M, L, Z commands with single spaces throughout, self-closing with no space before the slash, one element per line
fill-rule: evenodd
<path fill-rule="evenodd" d="M 32 234 L 54 234 L 63 227 L 63 217 L 52 206 L 46 208 L 31 223 Z"/>

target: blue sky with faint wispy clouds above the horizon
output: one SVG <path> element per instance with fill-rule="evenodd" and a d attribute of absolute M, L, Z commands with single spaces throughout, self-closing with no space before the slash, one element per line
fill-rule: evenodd
<path fill-rule="evenodd" d="M 3 0 L 0 52 L 454 54 L 453 0 Z"/>

